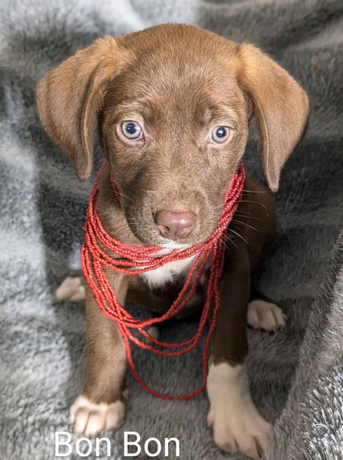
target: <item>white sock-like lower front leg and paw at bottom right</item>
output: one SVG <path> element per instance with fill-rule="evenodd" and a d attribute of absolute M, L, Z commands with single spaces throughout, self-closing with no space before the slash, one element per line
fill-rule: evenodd
<path fill-rule="evenodd" d="M 207 421 L 216 444 L 227 452 L 262 457 L 273 427 L 252 402 L 245 366 L 211 365 L 207 391 L 211 403 Z"/>

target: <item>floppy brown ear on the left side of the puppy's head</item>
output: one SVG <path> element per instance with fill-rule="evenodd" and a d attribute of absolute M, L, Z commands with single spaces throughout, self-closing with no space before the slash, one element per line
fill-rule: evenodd
<path fill-rule="evenodd" d="M 97 112 L 125 55 L 113 37 L 97 39 L 52 70 L 38 85 L 40 120 L 51 139 L 73 161 L 81 182 L 91 173 Z"/>

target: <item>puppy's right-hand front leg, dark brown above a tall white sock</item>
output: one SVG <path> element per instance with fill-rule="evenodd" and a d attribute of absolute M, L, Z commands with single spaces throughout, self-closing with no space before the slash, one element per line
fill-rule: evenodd
<path fill-rule="evenodd" d="M 267 448 L 272 426 L 252 402 L 246 370 L 246 313 L 250 292 L 248 254 L 239 251 L 238 257 L 231 258 L 224 270 L 218 283 L 220 307 L 207 377 L 211 404 L 208 423 L 213 426 L 214 440 L 219 447 L 259 457 Z"/>

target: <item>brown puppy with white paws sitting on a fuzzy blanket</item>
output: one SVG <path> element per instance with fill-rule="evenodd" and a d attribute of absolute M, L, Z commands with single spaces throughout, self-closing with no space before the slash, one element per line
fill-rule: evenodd
<path fill-rule="evenodd" d="M 96 40 L 43 78 L 38 107 L 46 131 L 72 159 L 81 181 L 91 172 L 97 120 L 108 160 L 98 198 L 104 227 L 124 242 L 166 251 L 204 242 L 215 230 L 251 117 L 273 191 L 309 117 L 306 93 L 263 52 L 182 24 Z M 250 397 L 246 320 L 275 331 L 284 326 L 284 317 L 258 292 L 256 282 L 260 256 L 276 230 L 273 199 L 249 179 L 245 189 L 229 225 L 219 282 L 208 421 L 220 447 L 258 456 L 267 447 L 271 426 Z M 122 305 L 131 297 L 162 313 L 176 299 L 193 262 L 172 262 L 141 276 L 107 275 Z M 203 301 L 199 291 L 187 313 Z M 71 418 L 76 431 L 89 434 L 116 426 L 124 416 L 126 355 L 115 322 L 103 315 L 89 288 L 86 311 L 87 379 Z"/>

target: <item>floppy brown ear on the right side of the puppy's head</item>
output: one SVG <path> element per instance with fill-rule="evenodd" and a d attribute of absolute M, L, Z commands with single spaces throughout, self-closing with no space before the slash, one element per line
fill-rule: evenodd
<path fill-rule="evenodd" d="M 269 188 L 276 192 L 281 168 L 307 129 L 309 99 L 286 70 L 255 46 L 240 45 L 239 55 L 239 83 L 257 122 Z"/>

